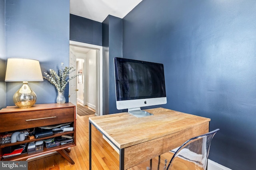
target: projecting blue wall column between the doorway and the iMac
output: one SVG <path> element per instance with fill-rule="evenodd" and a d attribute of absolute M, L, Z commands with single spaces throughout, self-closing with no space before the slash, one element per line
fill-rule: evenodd
<path fill-rule="evenodd" d="M 103 42 L 103 114 L 119 113 L 116 109 L 114 57 L 122 57 L 122 19 L 108 16 L 102 22 Z"/>

